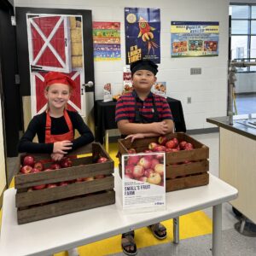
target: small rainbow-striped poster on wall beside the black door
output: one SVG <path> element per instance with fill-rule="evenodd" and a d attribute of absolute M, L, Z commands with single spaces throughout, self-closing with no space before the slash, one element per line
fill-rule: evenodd
<path fill-rule="evenodd" d="M 92 23 L 94 61 L 121 59 L 120 22 Z"/>

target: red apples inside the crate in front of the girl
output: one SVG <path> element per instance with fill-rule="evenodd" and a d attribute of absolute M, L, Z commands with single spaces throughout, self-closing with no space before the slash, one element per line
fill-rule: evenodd
<path fill-rule="evenodd" d="M 99 157 L 98 160 L 96 160 L 96 163 L 104 163 L 108 161 L 105 157 Z M 32 155 L 26 155 L 22 161 L 22 166 L 20 167 L 20 172 L 22 174 L 30 174 L 30 173 L 37 173 L 37 172 L 47 172 L 52 170 L 58 170 L 61 168 L 67 168 L 73 166 L 72 160 L 69 158 L 64 158 L 61 161 L 53 163 L 49 168 L 44 168 L 44 163 L 40 160 L 36 161 L 35 158 Z M 99 174 L 95 177 L 79 177 L 72 181 L 62 181 L 60 183 L 49 183 L 49 184 L 40 184 L 33 186 L 32 188 L 28 189 L 28 191 L 31 190 L 38 190 L 38 189 L 50 189 L 55 188 L 57 186 L 66 186 L 69 183 L 80 183 L 84 181 L 90 181 L 98 178 L 106 177 L 105 175 Z"/>

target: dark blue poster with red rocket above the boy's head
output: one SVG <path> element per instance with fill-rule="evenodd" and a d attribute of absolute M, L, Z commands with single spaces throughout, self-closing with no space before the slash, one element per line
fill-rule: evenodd
<path fill-rule="evenodd" d="M 160 63 L 160 9 L 125 8 L 125 60 Z"/>

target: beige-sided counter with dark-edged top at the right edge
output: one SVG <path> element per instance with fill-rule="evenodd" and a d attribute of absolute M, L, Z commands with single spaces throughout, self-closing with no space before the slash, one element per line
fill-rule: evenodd
<path fill-rule="evenodd" d="M 219 177 L 238 189 L 238 198 L 230 201 L 233 207 L 256 223 L 256 114 L 209 118 L 207 122 L 219 127 Z"/>

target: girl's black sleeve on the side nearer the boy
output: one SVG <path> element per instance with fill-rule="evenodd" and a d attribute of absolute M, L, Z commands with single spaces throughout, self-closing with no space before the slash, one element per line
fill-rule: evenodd
<path fill-rule="evenodd" d="M 73 150 L 80 148 L 94 141 L 94 136 L 79 113 L 74 113 L 73 128 L 79 131 L 80 137 L 73 140 Z"/>

